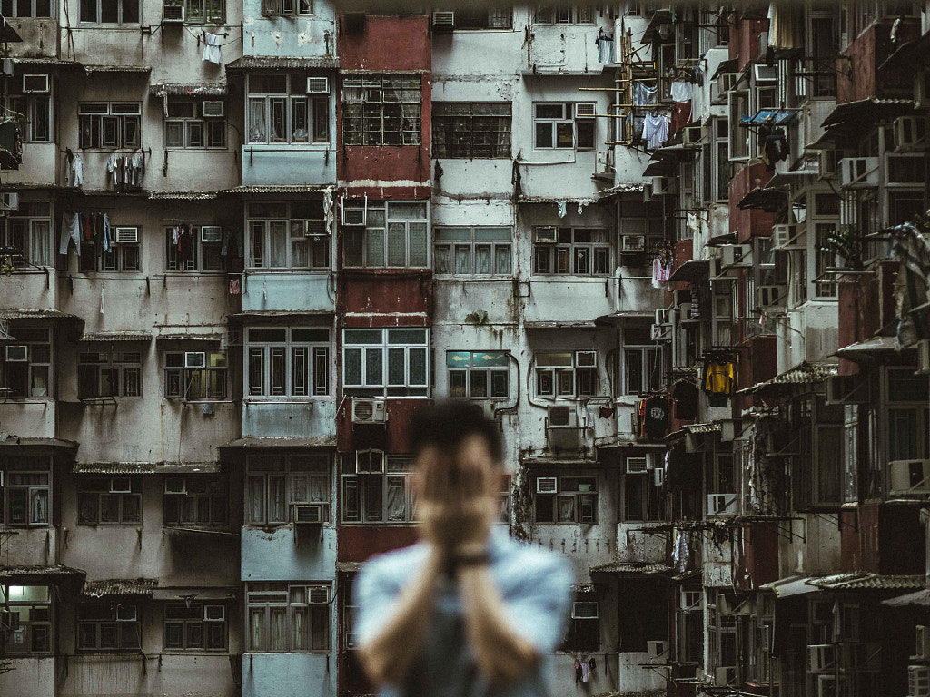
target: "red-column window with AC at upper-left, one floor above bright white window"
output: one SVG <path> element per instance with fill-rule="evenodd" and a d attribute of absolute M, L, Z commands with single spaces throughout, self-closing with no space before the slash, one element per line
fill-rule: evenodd
<path fill-rule="evenodd" d="M 428 269 L 430 225 L 425 201 L 368 204 L 365 227 L 343 227 L 345 265 Z"/>

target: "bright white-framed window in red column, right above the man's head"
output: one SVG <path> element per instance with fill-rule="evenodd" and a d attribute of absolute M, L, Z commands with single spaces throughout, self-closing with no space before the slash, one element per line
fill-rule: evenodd
<path fill-rule="evenodd" d="M 346 329 L 343 344 L 342 382 L 347 396 L 429 394 L 429 330 Z"/>

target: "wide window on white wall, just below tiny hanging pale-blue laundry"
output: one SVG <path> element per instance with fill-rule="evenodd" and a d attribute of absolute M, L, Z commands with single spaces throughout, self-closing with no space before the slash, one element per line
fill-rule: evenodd
<path fill-rule="evenodd" d="M 610 243 L 603 228 L 533 229 L 533 273 L 605 276 L 610 273 Z"/>

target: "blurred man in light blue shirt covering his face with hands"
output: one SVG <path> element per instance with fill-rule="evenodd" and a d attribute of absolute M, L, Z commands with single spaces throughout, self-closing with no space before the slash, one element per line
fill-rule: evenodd
<path fill-rule="evenodd" d="M 496 526 L 497 425 L 449 401 L 414 415 L 422 541 L 366 563 L 355 583 L 365 671 L 387 697 L 542 697 L 571 572 Z"/>

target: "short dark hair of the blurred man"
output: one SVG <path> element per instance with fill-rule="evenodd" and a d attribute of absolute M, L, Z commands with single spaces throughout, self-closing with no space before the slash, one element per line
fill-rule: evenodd
<path fill-rule="evenodd" d="M 435 445 L 451 453 L 472 435 L 484 437 L 491 456 L 500 461 L 498 425 L 485 416 L 484 410 L 471 401 L 437 401 L 413 414 L 407 436 L 413 453 Z"/>

